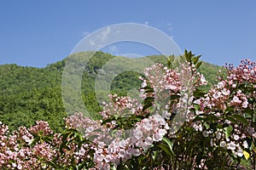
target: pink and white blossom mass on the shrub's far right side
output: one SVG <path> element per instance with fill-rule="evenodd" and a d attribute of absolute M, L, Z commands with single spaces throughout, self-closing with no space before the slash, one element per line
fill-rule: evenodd
<path fill-rule="evenodd" d="M 230 65 L 226 66 L 226 69 L 227 78 L 218 77 L 220 82 L 212 87 L 204 97 L 194 101 L 195 104 L 200 105 L 198 114 L 205 113 L 219 117 L 216 122 L 225 127 L 218 127 L 216 131 L 212 131 L 209 127 L 204 127 L 201 122 L 195 122 L 193 127 L 196 131 L 201 131 L 203 136 L 210 137 L 212 146 L 224 147 L 236 156 L 242 157 L 243 151 L 249 147 L 246 138 L 255 138 L 256 133 L 250 122 L 247 125 L 239 120 L 230 122 L 225 117 L 233 114 L 245 117 L 244 111 L 247 108 L 255 109 L 255 106 L 249 104 L 248 99 L 256 98 L 256 62 L 245 59 L 238 67 Z M 232 113 L 226 111 L 230 107 L 234 109 Z M 227 135 L 228 133 L 230 136 Z"/>

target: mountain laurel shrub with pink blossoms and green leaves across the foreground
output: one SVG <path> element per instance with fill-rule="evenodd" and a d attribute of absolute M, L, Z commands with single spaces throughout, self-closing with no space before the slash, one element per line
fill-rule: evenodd
<path fill-rule="evenodd" d="M 1 122 L 0 168 L 255 169 L 256 62 L 226 65 L 206 92 L 200 57 L 147 68 L 143 102 L 109 95 L 101 121 L 76 113 L 63 133 L 43 121 L 9 133 Z"/>

